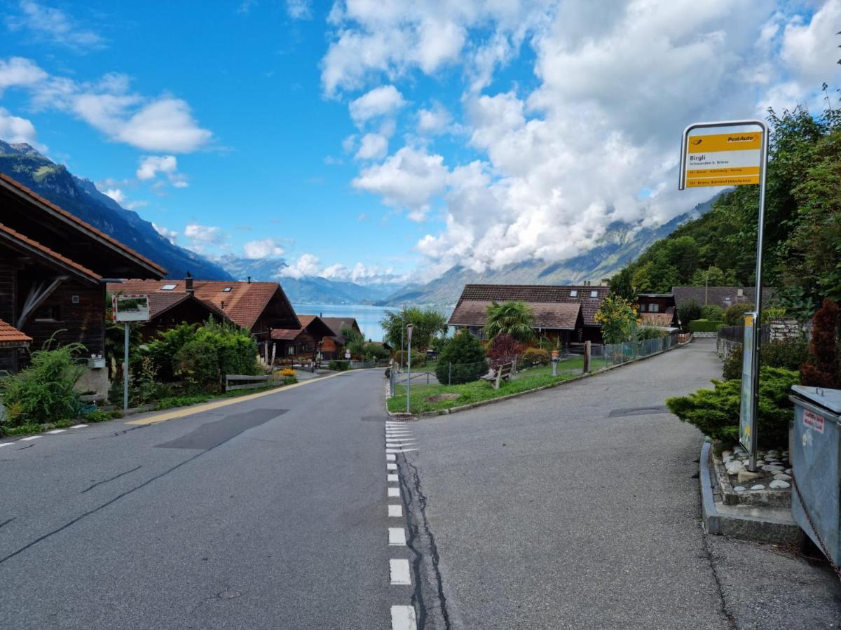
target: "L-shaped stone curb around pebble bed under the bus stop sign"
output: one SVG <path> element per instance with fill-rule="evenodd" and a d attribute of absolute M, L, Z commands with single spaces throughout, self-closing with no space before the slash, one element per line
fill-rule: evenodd
<path fill-rule="evenodd" d="M 701 518 L 706 533 L 716 536 L 729 536 L 743 540 L 754 540 L 759 543 L 800 544 L 803 541 L 803 530 L 793 518 L 777 518 L 757 515 L 762 512 L 759 506 L 727 506 L 716 503 L 716 480 L 711 474 L 712 444 L 704 442 L 701 446 L 701 462 L 699 465 L 701 484 Z M 747 508 L 753 514 L 735 513 L 739 509 Z M 727 510 L 725 512 L 724 510 Z"/>

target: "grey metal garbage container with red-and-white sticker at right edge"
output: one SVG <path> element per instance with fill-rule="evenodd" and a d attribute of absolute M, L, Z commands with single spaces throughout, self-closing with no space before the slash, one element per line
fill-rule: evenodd
<path fill-rule="evenodd" d="M 841 390 L 796 385 L 789 455 L 796 486 L 791 515 L 809 538 L 841 564 Z M 798 497 L 797 494 L 800 494 Z M 805 507 L 805 510 L 804 510 Z M 811 520 L 810 520 L 811 517 Z"/>

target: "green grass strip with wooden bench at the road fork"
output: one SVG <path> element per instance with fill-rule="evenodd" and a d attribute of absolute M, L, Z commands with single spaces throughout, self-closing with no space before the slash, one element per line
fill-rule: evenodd
<path fill-rule="evenodd" d="M 574 374 L 569 373 L 553 376 L 551 375 L 551 368 L 549 374 L 532 374 L 530 370 L 529 373 L 521 375 L 521 378 L 516 379 L 516 381 L 511 381 L 510 383 L 503 381 L 498 390 L 495 390 L 494 386 L 486 381 L 473 381 L 472 383 L 464 383 L 463 385 L 412 384 L 410 412 L 434 412 L 440 409 L 449 409 L 450 407 L 461 407 L 462 405 L 469 405 L 473 402 L 487 401 L 492 398 L 500 398 L 500 396 L 508 396 L 509 394 L 552 385 L 559 381 L 568 381 L 574 376 Z M 458 394 L 458 397 L 454 397 L 452 400 L 430 400 L 432 396 L 438 394 Z M 405 412 L 405 410 L 406 391 L 403 386 L 399 385 L 396 388 L 394 396 L 389 398 L 389 411 Z"/>

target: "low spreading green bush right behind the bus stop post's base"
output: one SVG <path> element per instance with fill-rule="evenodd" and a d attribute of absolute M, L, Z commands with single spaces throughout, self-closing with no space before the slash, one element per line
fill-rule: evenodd
<path fill-rule="evenodd" d="M 785 444 L 793 417 L 789 402 L 791 386 L 799 382 L 796 372 L 763 367 L 759 372 L 759 417 L 757 436 L 762 444 Z M 714 389 L 666 400 L 669 411 L 705 435 L 724 442 L 738 441 L 742 381 L 712 381 Z"/>

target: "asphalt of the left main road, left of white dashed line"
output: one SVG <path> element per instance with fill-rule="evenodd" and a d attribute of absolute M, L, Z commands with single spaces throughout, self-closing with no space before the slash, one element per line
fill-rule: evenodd
<path fill-rule="evenodd" d="M 0 449 L 0 627 L 389 627 L 382 388 Z"/>

